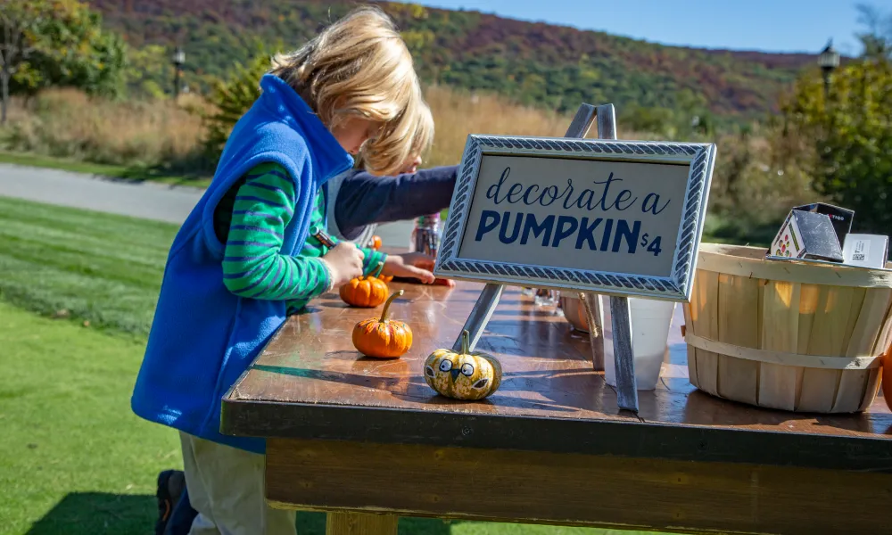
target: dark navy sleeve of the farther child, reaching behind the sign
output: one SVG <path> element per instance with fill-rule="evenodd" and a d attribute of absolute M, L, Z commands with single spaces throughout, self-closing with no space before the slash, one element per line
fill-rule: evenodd
<path fill-rule="evenodd" d="M 395 177 L 354 171 L 335 197 L 335 222 L 344 235 L 357 227 L 417 218 L 449 208 L 458 166 L 420 169 Z"/>

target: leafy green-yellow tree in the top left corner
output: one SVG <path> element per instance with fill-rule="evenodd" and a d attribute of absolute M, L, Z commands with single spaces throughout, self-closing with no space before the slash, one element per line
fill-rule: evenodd
<path fill-rule="evenodd" d="M 91 95 L 117 95 L 125 46 L 78 0 L 0 0 L 0 83 L 3 117 L 9 96 L 47 86 L 74 86 Z"/>

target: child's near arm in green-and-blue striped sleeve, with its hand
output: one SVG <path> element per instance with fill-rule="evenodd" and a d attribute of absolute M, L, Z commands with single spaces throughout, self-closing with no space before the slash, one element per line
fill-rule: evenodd
<path fill-rule="evenodd" d="M 281 254 L 296 202 L 293 181 L 275 164 L 260 165 L 246 178 L 235 196 L 223 259 L 230 292 L 252 299 L 309 300 L 359 275 L 359 251 L 332 251 L 336 262 Z M 342 247 L 351 244 L 337 249 Z"/>

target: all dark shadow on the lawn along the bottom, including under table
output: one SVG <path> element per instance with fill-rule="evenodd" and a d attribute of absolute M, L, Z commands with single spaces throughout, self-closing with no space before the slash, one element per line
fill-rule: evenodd
<path fill-rule="evenodd" d="M 27 535 L 152 533 L 158 508 L 154 496 L 72 492 L 31 526 Z M 453 522 L 455 523 L 455 522 Z M 326 514 L 297 514 L 300 535 L 325 535 Z M 400 535 L 449 535 L 438 519 L 401 518 Z"/>

